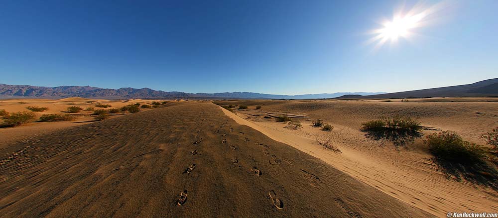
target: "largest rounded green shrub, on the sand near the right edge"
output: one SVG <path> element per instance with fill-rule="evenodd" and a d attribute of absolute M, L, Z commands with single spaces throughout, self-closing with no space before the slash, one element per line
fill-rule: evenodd
<path fill-rule="evenodd" d="M 464 141 L 453 131 L 430 134 L 426 143 L 436 158 L 454 163 L 480 162 L 487 154 L 485 147 Z"/>

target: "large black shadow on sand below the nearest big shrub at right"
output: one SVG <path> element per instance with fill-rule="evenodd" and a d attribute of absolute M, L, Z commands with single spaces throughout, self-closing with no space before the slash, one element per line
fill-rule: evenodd
<path fill-rule="evenodd" d="M 436 164 L 439 171 L 445 174 L 447 179 L 456 181 L 465 179 L 470 183 L 488 186 L 498 191 L 498 171 L 485 161 L 461 164 L 433 158 L 432 162 Z"/>

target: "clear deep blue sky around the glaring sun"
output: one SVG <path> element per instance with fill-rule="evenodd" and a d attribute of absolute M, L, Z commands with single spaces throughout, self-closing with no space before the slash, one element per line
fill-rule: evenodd
<path fill-rule="evenodd" d="M 418 1 L 6 0 L 0 83 L 309 94 L 498 77 L 497 0 L 449 1 L 423 36 L 366 45 L 403 2 Z"/>

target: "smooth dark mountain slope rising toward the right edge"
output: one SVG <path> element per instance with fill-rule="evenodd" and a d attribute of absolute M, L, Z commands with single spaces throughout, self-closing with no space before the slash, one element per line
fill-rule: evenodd
<path fill-rule="evenodd" d="M 448 86 L 432 89 L 422 89 L 406 92 L 387 93 L 380 95 L 358 96 L 363 99 L 388 99 L 388 98 L 425 98 L 425 97 L 487 97 L 498 96 L 498 78 L 483 80 L 473 84 Z M 341 98 L 351 98 L 341 96 Z"/>

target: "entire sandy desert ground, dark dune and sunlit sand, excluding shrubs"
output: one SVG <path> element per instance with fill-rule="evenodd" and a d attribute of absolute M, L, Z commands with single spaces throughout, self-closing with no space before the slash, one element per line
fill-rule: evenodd
<path fill-rule="evenodd" d="M 97 101 L 113 108 L 151 102 Z M 214 102 L 249 106 L 236 113 L 206 101 L 168 102 L 102 121 L 82 111 L 73 121 L 0 128 L 0 217 L 445 217 L 498 210 L 493 184 L 446 175 L 423 138 L 394 146 L 359 130 L 381 115 L 410 115 L 432 129 L 424 134 L 453 130 L 484 144 L 479 135 L 498 126 L 496 99 L 385 101 Z M 61 113 L 95 104 L 88 102 L 8 100 L 0 109 Z M 278 114 L 303 127 L 275 122 Z M 334 129 L 311 127 L 312 119 Z"/>

